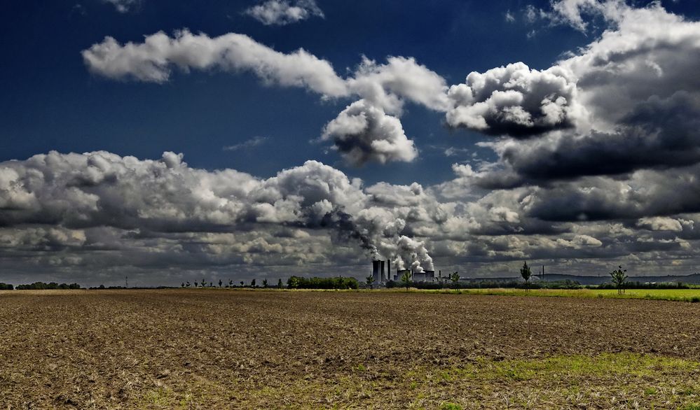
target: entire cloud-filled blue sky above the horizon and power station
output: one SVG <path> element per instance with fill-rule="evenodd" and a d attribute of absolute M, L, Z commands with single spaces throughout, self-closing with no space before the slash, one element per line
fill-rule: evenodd
<path fill-rule="evenodd" d="M 693 1 L 0 13 L 0 282 L 691 274 Z M 536 269 L 535 269 L 536 273 Z"/>

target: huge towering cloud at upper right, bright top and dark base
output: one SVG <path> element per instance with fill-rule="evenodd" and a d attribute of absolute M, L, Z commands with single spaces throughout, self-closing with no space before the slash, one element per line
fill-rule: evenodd
<path fill-rule="evenodd" d="M 611 24 L 552 68 L 569 73 L 586 120 L 529 141 L 487 143 L 500 158 L 475 183 L 547 185 L 700 162 L 700 83 L 694 75 L 700 65 L 700 24 L 668 13 L 659 3 L 645 8 L 619 1 L 567 3 L 557 3 L 560 12 L 597 11 Z"/>

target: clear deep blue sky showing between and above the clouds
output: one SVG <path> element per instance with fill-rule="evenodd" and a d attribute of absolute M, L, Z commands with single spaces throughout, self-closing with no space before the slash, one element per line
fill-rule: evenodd
<path fill-rule="evenodd" d="M 362 55 L 378 61 L 402 55 L 459 83 L 470 71 L 513 61 L 546 69 L 588 41 L 565 26 L 528 38 L 540 27 L 522 20 L 523 1 L 328 1 L 320 4 L 325 18 L 284 26 L 265 26 L 243 15 L 252 4 L 142 1 L 118 13 L 98 0 L 9 3 L 0 31 L 6 44 L 0 64 L 0 160 L 48 150 L 109 150 L 149 158 L 172 150 L 184 153 L 194 167 L 258 176 L 315 158 L 366 181 L 436 183 L 452 173 L 445 148 L 488 152 L 474 148 L 479 134 L 451 132 L 439 113 L 423 107 L 409 105 L 403 121 L 420 149 L 416 162 L 354 169 L 335 153 L 325 154 L 322 144 L 308 143 L 350 100 L 320 101 L 305 90 L 263 85 L 246 73 L 176 73 L 163 85 L 106 80 L 85 69 L 80 52 L 108 35 L 138 42 L 182 28 L 210 36 L 233 31 L 282 52 L 304 48 L 328 59 L 341 74 L 357 66 Z M 506 20 L 509 10 L 519 21 Z M 255 136 L 268 140 L 247 152 L 222 150 Z"/>

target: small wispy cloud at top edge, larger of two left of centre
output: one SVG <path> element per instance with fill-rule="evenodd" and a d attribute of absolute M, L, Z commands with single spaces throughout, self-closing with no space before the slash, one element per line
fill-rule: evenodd
<path fill-rule="evenodd" d="M 244 13 L 265 25 L 285 25 L 309 17 L 324 17 L 323 11 L 314 0 L 267 0 L 247 8 Z"/>

